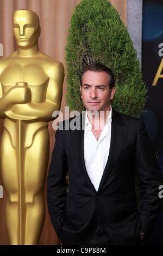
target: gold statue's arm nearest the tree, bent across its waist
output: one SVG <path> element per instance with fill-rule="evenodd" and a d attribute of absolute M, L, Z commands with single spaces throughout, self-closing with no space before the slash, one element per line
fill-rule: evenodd
<path fill-rule="evenodd" d="M 57 62 L 48 70 L 49 83 L 46 100 L 43 103 L 17 104 L 7 111 L 7 116 L 15 119 L 51 121 L 53 111 L 60 109 L 62 99 L 62 84 L 64 81 L 64 67 Z"/>

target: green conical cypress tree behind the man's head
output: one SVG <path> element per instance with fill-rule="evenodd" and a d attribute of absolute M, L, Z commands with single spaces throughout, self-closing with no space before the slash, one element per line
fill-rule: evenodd
<path fill-rule="evenodd" d="M 133 42 L 120 15 L 107 0 L 82 0 L 72 15 L 67 38 L 67 103 L 71 110 L 84 109 L 79 77 L 87 64 L 101 62 L 115 75 L 112 107 L 135 116 L 143 112 L 146 87 Z"/>

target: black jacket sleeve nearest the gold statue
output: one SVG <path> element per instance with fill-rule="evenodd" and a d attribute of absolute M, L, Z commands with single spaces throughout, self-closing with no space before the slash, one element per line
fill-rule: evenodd
<path fill-rule="evenodd" d="M 67 159 L 61 131 L 55 133 L 55 145 L 47 177 L 47 205 L 53 227 L 58 235 L 65 213 L 67 197 Z"/>

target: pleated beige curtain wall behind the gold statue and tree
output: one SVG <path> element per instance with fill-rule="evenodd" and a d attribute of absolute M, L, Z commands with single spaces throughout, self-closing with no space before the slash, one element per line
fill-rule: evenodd
<path fill-rule="evenodd" d="M 12 13 L 16 9 L 34 10 L 40 17 L 41 35 L 39 39 L 40 49 L 61 61 L 65 65 L 65 45 L 70 24 L 71 14 L 80 0 L 1 0 L 0 1 L 0 43 L 4 46 L 4 57 L 8 56 L 16 49 L 14 36 L 12 34 Z M 127 0 L 110 1 L 121 14 L 126 24 Z M 61 109 L 66 104 L 66 78 L 64 82 L 64 92 Z M 3 121 L 0 123 L 0 137 L 3 130 Z M 54 145 L 54 131 L 49 123 L 49 134 L 52 152 Z M 0 152 L 1 153 L 1 152 Z M 1 170 L 0 170 L 1 171 Z M 0 184 L 1 177 L 0 177 Z M 0 199 L 0 245 L 8 245 L 8 236 L 4 223 L 4 198 Z M 47 211 L 47 209 L 46 209 Z M 52 228 L 48 214 L 45 226 L 40 238 L 41 245 L 58 245 L 59 240 Z"/>

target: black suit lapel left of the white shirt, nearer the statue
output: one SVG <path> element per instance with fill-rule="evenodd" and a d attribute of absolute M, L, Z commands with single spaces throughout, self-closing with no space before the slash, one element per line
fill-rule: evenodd
<path fill-rule="evenodd" d="M 71 132 L 71 144 L 76 158 L 76 162 L 82 172 L 84 172 L 85 178 L 89 186 L 96 192 L 89 175 L 87 174 L 85 161 L 84 161 L 84 124 L 85 124 L 85 113 L 76 117 L 76 121 L 80 122 L 79 130 L 70 130 Z M 83 129 L 82 129 L 83 127 Z M 97 192 L 96 192 L 97 193 Z"/>

